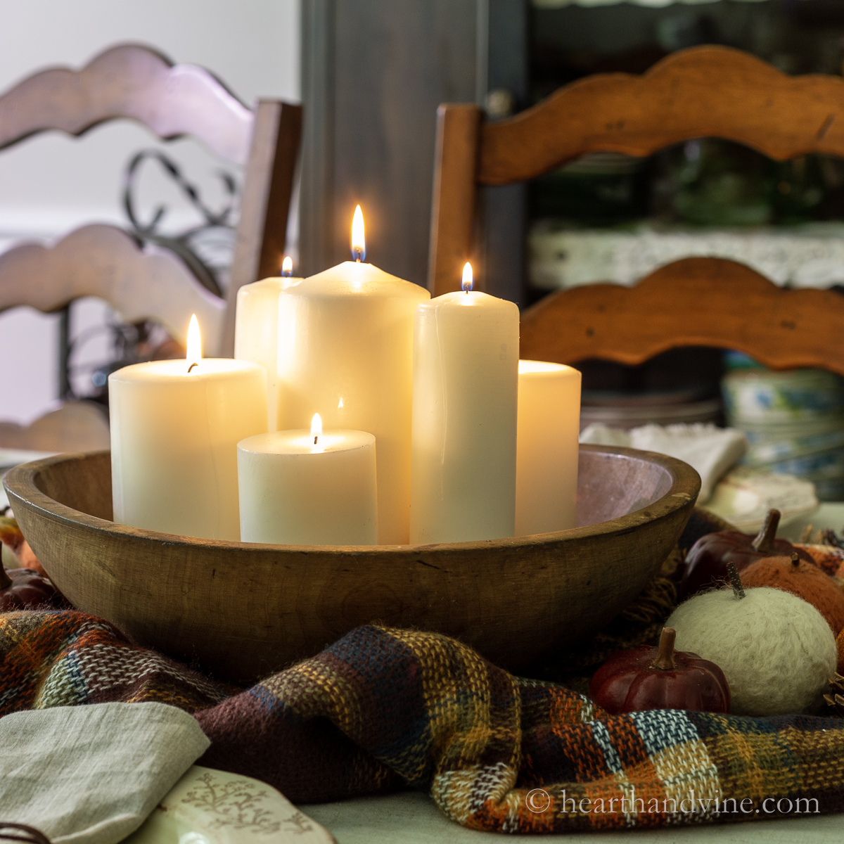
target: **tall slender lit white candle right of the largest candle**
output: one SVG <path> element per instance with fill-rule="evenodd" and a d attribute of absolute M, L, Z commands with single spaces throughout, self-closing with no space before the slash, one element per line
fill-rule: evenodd
<path fill-rule="evenodd" d="M 414 544 L 516 532 L 519 310 L 463 286 L 416 308 Z"/>

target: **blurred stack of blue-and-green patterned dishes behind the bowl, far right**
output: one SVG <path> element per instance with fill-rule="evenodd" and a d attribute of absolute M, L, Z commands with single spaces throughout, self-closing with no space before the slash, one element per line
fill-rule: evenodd
<path fill-rule="evenodd" d="M 844 500 L 844 381 L 824 370 L 742 369 L 722 381 L 727 424 L 743 430 L 743 463 L 814 484 Z"/>

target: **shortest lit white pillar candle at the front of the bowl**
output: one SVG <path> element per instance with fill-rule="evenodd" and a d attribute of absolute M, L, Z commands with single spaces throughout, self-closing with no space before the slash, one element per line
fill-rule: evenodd
<path fill-rule="evenodd" d="M 321 431 L 311 425 L 237 444 L 243 542 L 377 544 L 375 437 Z"/>

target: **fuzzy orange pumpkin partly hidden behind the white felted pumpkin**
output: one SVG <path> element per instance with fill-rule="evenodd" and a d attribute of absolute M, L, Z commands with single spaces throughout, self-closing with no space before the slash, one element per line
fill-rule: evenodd
<path fill-rule="evenodd" d="M 741 582 L 745 587 L 767 586 L 791 592 L 812 604 L 836 636 L 844 628 L 844 593 L 817 565 L 801 560 L 796 554 L 790 560 L 787 557 L 756 560 L 741 572 Z"/>

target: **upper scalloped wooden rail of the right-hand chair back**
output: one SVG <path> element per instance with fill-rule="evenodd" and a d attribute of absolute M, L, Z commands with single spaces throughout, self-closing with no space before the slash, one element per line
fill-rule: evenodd
<path fill-rule="evenodd" d="M 776 160 L 844 156 L 844 79 L 790 77 L 730 47 L 692 47 L 641 76 L 583 78 L 509 120 L 484 123 L 477 179 L 507 184 L 588 152 L 646 156 L 705 137 Z"/>

